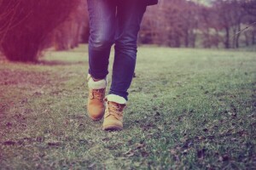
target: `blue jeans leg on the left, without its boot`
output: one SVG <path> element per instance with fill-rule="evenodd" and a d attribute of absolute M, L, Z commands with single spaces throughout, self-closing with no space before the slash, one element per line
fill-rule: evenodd
<path fill-rule="evenodd" d="M 90 19 L 89 74 L 95 79 L 108 75 L 108 59 L 114 41 L 115 0 L 87 0 Z"/>

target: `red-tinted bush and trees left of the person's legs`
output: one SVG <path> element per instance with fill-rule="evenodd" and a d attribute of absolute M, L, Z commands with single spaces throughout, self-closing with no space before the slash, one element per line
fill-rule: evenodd
<path fill-rule="evenodd" d="M 37 61 L 45 48 L 77 47 L 88 26 L 85 2 L 0 0 L 0 52 L 26 62 Z"/>

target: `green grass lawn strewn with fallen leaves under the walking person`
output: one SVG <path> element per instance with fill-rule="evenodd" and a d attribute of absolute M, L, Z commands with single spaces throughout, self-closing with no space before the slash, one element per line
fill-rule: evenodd
<path fill-rule="evenodd" d="M 256 168 L 255 52 L 139 48 L 125 129 L 104 132 L 86 49 L 0 60 L 0 169 Z"/>

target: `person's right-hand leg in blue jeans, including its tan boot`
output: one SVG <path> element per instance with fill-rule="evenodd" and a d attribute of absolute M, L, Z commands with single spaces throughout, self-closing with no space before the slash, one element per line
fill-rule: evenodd
<path fill-rule="evenodd" d="M 140 30 L 144 1 L 123 0 L 117 3 L 117 31 L 110 92 L 106 100 L 103 130 L 123 129 L 123 111 L 137 58 L 137 34 Z"/>

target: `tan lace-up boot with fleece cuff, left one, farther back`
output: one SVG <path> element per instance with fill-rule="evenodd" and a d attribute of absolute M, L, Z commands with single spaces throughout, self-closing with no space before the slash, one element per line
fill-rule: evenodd
<path fill-rule="evenodd" d="M 104 98 L 107 86 L 105 79 L 95 82 L 88 76 L 89 96 L 87 104 L 87 113 L 94 121 L 101 120 L 104 116 Z"/>

